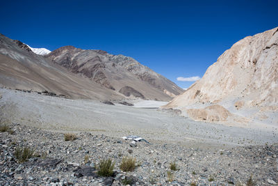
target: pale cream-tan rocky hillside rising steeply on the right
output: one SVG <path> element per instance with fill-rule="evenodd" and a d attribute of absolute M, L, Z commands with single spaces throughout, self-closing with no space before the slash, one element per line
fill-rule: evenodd
<path fill-rule="evenodd" d="M 275 28 L 236 42 L 206 70 L 202 79 L 165 107 L 182 109 L 183 115 L 209 122 L 227 121 L 231 115 L 236 116 L 237 119 L 230 117 L 236 122 L 268 118 L 270 123 L 278 123 L 277 118 L 273 121 L 265 116 L 266 111 L 277 113 L 277 71 L 278 28 Z M 216 110 L 212 105 L 221 107 L 215 107 Z M 225 117 L 216 117 L 215 113 Z"/>

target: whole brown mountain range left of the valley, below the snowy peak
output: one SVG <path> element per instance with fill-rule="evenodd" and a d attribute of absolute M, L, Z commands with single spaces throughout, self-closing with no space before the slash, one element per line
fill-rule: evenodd
<path fill-rule="evenodd" d="M 0 84 L 8 88 L 48 91 L 69 98 L 96 100 L 172 100 L 183 89 L 123 55 L 97 49 L 60 47 L 40 55 L 19 40 L 0 35 Z"/>

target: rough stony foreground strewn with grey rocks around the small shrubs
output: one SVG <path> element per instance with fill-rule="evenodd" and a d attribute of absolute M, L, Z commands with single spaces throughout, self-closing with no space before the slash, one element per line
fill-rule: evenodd
<path fill-rule="evenodd" d="M 244 185 L 250 176 L 255 185 L 278 183 L 277 145 L 202 150 L 138 142 L 131 147 L 131 141 L 104 134 L 81 132 L 65 141 L 63 133 L 17 123 L 10 130 L 0 133 L 0 185 L 124 185 L 124 179 L 131 185 Z M 20 164 L 14 155 L 19 147 L 33 148 L 41 157 Z M 126 156 L 136 158 L 134 171 L 120 170 Z M 97 176 L 95 166 L 108 158 L 115 162 L 114 176 Z M 177 171 L 170 171 L 171 162 Z"/>

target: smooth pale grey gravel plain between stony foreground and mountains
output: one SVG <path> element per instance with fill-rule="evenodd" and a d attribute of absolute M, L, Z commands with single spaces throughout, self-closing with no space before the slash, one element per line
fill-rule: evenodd
<path fill-rule="evenodd" d="M 192 148 L 278 143 L 278 123 L 230 127 L 192 121 L 174 111 L 69 100 L 38 93 L 0 89 L 0 116 L 10 122 L 56 132 L 92 132 L 110 137 L 139 135 L 152 143 Z"/>

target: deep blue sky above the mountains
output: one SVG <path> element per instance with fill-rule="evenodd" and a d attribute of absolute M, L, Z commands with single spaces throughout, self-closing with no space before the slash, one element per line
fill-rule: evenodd
<path fill-rule="evenodd" d="M 131 56 L 181 88 L 234 42 L 278 26 L 278 1 L 1 1 L 0 33 L 31 47 Z"/>

